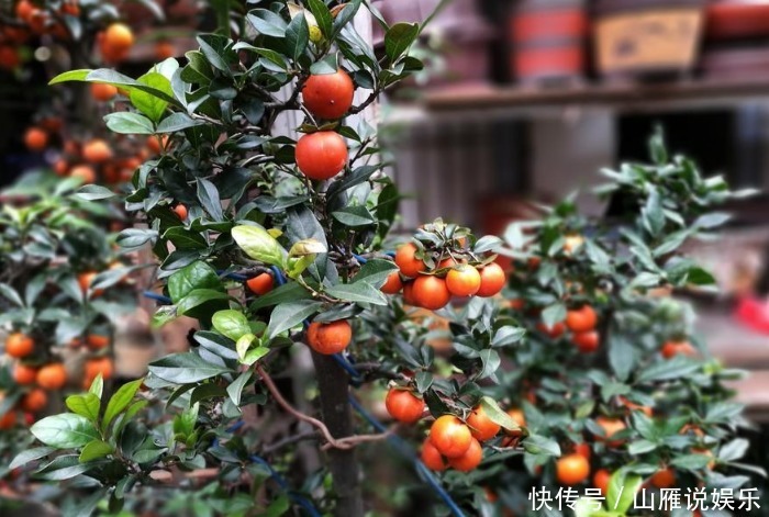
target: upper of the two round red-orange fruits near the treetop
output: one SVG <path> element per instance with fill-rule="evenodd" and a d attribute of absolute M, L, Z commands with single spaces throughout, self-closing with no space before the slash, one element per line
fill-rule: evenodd
<path fill-rule="evenodd" d="M 353 105 L 355 85 L 346 71 L 313 75 L 302 88 L 302 102 L 320 119 L 341 119 Z"/>

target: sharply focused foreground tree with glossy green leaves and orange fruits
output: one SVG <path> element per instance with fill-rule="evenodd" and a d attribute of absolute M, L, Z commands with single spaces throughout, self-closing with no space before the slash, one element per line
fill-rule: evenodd
<path fill-rule="evenodd" d="M 492 505 L 482 486 L 498 487 L 510 475 L 505 462 L 525 451 L 533 472 L 543 465 L 542 472 L 550 472 L 560 445 L 570 443 L 561 435 L 577 430 L 566 414 L 559 414 L 559 425 L 543 425 L 528 411 L 524 426 L 519 414 L 502 409 L 519 404 L 521 372 L 539 372 L 522 368 L 530 364 L 523 359 L 549 364 L 550 374 L 542 374 L 535 390 L 566 386 L 558 392 L 562 402 L 570 387 L 558 379 L 564 364 L 547 359 L 527 315 L 521 326 L 493 299 L 506 284 L 494 262 L 501 239 L 477 238 L 441 220 L 408 239 L 388 236 L 399 194 L 382 173 L 377 130 L 366 122 L 353 127 L 347 116 L 420 68 L 409 49 L 422 27 L 389 26 L 374 11 L 386 34 L 377 55 L 352 23 L 361 1 L 261 3 L 245 18 L 220 16 L 226 23 L 199 36 L 200 49 L 187 53 L 183 66 L 166 59 L 137 79 L 98 69 L 53 81 L 124 89 L 131 105 L 107 115 L 108 126 L 161 135 L 160 156 L 136 169 L 126 196 L 127 210 L 145 226 L 123 231 L 119 243 L 149 245 L 158 258 L 154 296 L 165 305 L 156 323 L 185 315 L 197 326 L 190 351 L 154 362 L 147 379 L 111 395 L 97 379 L 70 413 L 37 423 L 32 432 L 45 447 L 26 451 L 13 465 L 41 461 L 44 477 L 96 480 L 78 508 L 82 513 L 103 497 L 118 509 L 132 488 L 163 480 L 189 484 L 185 472 L 200 475 L 215 467 L 215 481 L 198 495 L 222 513 L 303 508 L 317 515 L 321 507 L 358 516 L 365 508 L 356 449 L 388 439 L 442 497 L 446 506 L 437 512 L 462 515 Z M 356 89 L 369 90 L 358 104 Z M 289 110 L 304 116 L 298 138 L 276 127 Z M 568 215 L 556 211 L 550 224 L 565 224 Z M 690 228 L 686 220 L 675 222 Z M 564 283 L 555 262 L 565 255 L 565 241 L 548 237 L 538 248 L 543 293 L 554 278 Z M 581 257 L 577 248 L 567 254 Z M 605 249 L 601 257 L 614 260 Z M 618 268 L 616 274 L 635 272 Z M 556 294 L 531 293 L 532 303 L 546 307 L 548 326 L 572 308 L 565 291 Z M 414 314 L 413 306 L 422 312 Z M 448 350 L 434 347 L 441 331 L 430 329 L 434 312 L 449 322 Z M 582 318 L 587 328 L 592 316 Z M 595 319 L 610 321 L 603 314 Z M 532 340 L 524 340 L 527 334 Z M 310 404 L 281 383 L 286 375 L 302 376 L 297 356 L 305 347 L 317 394 Z M 510 371 L 514 362 L 506 356 L 517 369 Z M 599 386 L 628 380 L 602 371 Z M 148 391 L 140 392 L 142 385 Z M 387 391 L 384 406 L 397 425 L 382 426 L 350 386 L 363 395 L 376 386 Z M 638 400 L 626 389 L 618 394 Z M 604 411 L 594 398 L 587 402 L 592 405 L 572 418 Z M 171 416 L 158 418 L 158 404 Z M 286 418 L 288 431 L 280 427 Z M 575 429 L 580 425 L 575 420 Z M 303 440 L 313 441 L 313 453 L 324 460 L 320 475 L 302 472 Z M 420 452 L 409 442 L 420 445 Z M 443 482 L 431 470 L 446 471 Z M 561 482 L 582 481 L 577 477 Z M 500 494 L 501 503 L 517 503 L 514 493 Z"/>

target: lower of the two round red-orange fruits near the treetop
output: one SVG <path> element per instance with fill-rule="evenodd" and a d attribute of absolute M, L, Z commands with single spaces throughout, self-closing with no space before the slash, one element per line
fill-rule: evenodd
<path fill-rule="evenodd" d="M 313 180 L 327 180 L 347 164 L 347 144 L 333 131 L 319 131 L 297 142 L 297 167 Z"/>

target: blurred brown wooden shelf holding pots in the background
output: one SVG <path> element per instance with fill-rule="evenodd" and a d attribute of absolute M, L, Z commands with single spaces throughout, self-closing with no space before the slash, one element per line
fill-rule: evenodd
<path fill-rule="evenodd" d="M 769 100 L 769 76 L 692 79 L 658 83 L 578 85 L 560 88 L 470 85 L 425 95 L 431 113 L 597 106 L 620 110 L 734 104 Z"/>

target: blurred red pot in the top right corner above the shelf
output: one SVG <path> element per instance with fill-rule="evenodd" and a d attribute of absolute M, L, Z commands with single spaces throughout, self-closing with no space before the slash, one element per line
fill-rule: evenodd
<path fill-rule="evenodd" d="M 766 35 L 769 35 L 769 1 L 716 0 L 707 5 L 707 40 L 738 40 Z"/>

